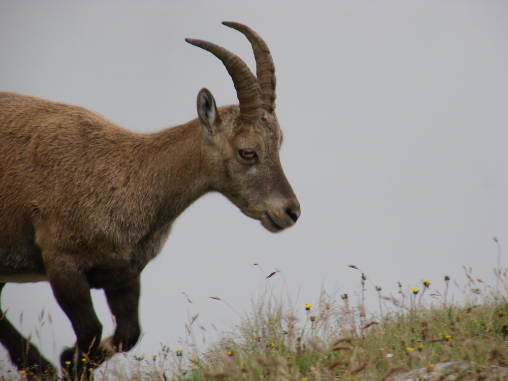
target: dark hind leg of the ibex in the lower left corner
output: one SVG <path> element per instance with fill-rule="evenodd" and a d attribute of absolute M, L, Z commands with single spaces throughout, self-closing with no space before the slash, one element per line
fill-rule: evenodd
<path fill-rule="evenodd" d="M 0 293 L 5 283 L 0 283 Z M 37 347 L 21 335 L 9 322 L 0 307 L 0 342 L 9 352 L 11 361 L 19 370 L 24 370 L 31 379 L 38 379 L 42 375 L 48 378 L 56 375 L 56 368 L 46 360 Z"/>

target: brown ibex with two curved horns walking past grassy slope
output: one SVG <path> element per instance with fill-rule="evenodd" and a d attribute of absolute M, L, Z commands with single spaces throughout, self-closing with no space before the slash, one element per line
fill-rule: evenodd
<path fill-rule="evenodd" d="M 76 346 L 60 362 L 100 364 L 138 340 L 140 273 L 190 204 L 220 192 L 270 232 L 295 224 L 300 205 L 282 171 L 270 50 L 249 27 L 224 22 L 252 45 L 257 76 L 235 54 L 186 39 L 219 58 L 239 105 L 217 108 L 206 88 L 198 118 L 152 134 L 124 130 L 86 109 L 0 92 L 0 290 L 49 281 Z M 104 289 L 112 337 L 90 289 Z M 25 371 L 53 365 L 2 315 L 0 341 Z"/>

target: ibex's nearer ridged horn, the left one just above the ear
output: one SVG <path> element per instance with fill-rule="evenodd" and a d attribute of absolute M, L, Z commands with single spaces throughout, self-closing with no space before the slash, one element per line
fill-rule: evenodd
<path fill-rule="evenodd" d="M 263 115 L 261 87 L 256 76 L 252 74 L 240 57 L 208 41 L 194 39 L 185 39 L 185 41 L 208 50 L 224 63 L 235 85 L 236 96 L 240 103 L 241 119 L 258 119 Z"/>

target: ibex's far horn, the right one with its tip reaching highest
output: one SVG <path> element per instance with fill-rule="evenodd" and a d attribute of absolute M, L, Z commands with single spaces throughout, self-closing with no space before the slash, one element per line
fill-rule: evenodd
<path fill-rule="evenodd" d="M 224 21 L 224 25 L 236 29 L 243 33 L 252 45 L 252 51 L 256 58 L 256 75 L 258 83 L 261 87 L 261 99 L 263 108 L 268 112 L 275 110 L 275 65 L 273 64 L 272 55 L 266 42 L 247 25 L 238 22 Z"/>

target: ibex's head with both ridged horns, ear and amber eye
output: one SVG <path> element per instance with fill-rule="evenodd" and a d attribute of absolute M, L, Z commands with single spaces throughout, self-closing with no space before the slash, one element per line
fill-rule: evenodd
<path fill-rule="evenodd" d="M 279 160 L 282 133 L 275 115 L 275 68 L 265 41 L 249 27 L 223 22 L 243 33 L 256 58 L 257 77 L 237 55 L 213 43 L 186 39 L 219 58 L 236 88 L 238 106 L 217 109 L 207 89 L 198 94 L 203 161 L 212 189 L 228 197 L 243 213 L 259 219 L 271 232 L 292 226 L 300 204 Z"/>

